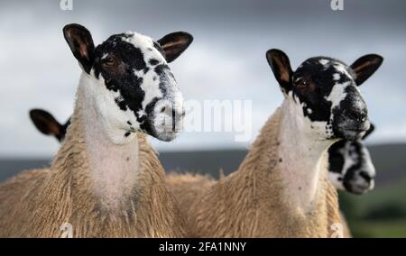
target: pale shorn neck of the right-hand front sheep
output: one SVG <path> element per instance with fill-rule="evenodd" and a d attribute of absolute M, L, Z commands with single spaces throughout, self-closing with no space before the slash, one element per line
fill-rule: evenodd
<path fill-rule="evenodd" d="M 318 206 L 318 188 L 326 172 L 323 158 L 333 143 L 318 139 L 318 134 L 303 122 L 301 107 L 290 98 L 281 106 L 280 175 L 286 185 L 283 196 L 291 206 L 304 213 L 312 212 Z"/>

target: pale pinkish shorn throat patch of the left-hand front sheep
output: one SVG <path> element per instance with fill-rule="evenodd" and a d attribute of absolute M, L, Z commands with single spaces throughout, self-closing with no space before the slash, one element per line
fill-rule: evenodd
<path fill-rule="evenodd" d="M 130 197 L 136 187 L 139 174 L 139 145 L 134 134 L 132 139 L 115 144 L 102 130 L 97 115 L 94 96 L 88 95 L 81 83 L 79 92 L 84 94 L 82 118 L 85 142 L 88 148 L 90 177 L 95 193 L 107 208 L 117 208 L 124 198 Z M 117 133 L 123 133 L 117 131 Z"/>

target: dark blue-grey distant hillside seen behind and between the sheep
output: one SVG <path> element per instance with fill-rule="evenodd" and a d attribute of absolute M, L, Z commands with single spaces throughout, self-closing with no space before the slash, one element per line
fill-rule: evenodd
<path fill-rule="evenodd" d="M 369 147 L 378 176 L 378 186 L 406 178 L 406 144 Z M 244 150 L 161 152 L 159 158 L 168 171 L 193 171 L 217 177 L 220 169 L 228 174 L 245 158 Z M 0 160 L 0 181 L 23 169 L 43 168 L 51 160 Z"/>

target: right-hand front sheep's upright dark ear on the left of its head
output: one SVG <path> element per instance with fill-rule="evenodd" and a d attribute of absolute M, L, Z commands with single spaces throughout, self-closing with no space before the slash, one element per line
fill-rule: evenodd
<path fill-rule="evenodd" d="M 281 50 L 272 49 L 266 52 L 266 59 L 281 87 L 289 90 L 293 73 L 289 57 Z"/>

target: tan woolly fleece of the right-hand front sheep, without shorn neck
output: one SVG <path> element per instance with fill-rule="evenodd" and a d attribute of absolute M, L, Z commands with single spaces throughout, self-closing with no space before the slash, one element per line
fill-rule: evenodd
<path fill-rule="evenodd" d="M 303 212 L 284 201 L 278 109 L 254 142 L 240 168 L 217 182 L 202 176 L 171 175 L 168 184 L 180 200 L 193 237 L 328 237 L 340 223 L 337 191 L 321 160 L 318 205 Z M 189 178 L 189 180 L 188 180 Z M 202 185 L 200 188 L 193 185 Z"/>

